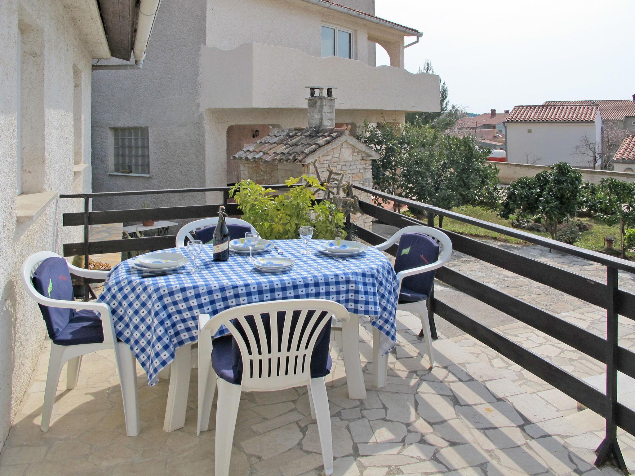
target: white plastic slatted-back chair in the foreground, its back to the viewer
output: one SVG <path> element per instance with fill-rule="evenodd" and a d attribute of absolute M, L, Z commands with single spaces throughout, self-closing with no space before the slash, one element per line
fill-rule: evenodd
<path fill-rule="evenodd" d="M 314 310 L 312 315 L 309 311 Z M 300 311 L 297 325 L 291 333 L 291 316 L 294 311 Z M 279 336 L 277 312 L 284 312 L 284 327 Z M 262 319 L 263 314 L 271 313 L 269 319 L 269 335 L 271 349 L 267 348 L 267 333 Z M 331 440 L 331 415 L 326 395 L 324 377 L 311 378 L 311 357 L 318 335 L 324 326 L 330 325 L 331 315 L 340 321 L 349 320 L 349 312 L 341 304 L 333 301 L 316 299 L 298 299 L 270 301 L 265 303 L 248 304 L 234 307 L 220 312 L 210 319 L 210 315 L 199 316 L 199 380 L 198 380 L 198 425 L 197 434 L 206 431 L 210 423 L 211 404 L 215 387 L 218 385 L 218 401 L 216 412 L 216 454 L 215 474 L 226 476 L 229 474 L 229 463 L 236 428 L 236 415 L 241 392 L 269 392 L 284 388 L 307 386 L 311 416 L 318 420 L 318 432 L 322 446 L 324 471 L 327 475 L 333 473 L 333 443 Z M 246 317 L 253 316 L 257 335 Z M 236 321 L 233 321 L 233 320 Z M 232 322 L 233 321 L 233 322 Z M 234 327 L 239 323 L 244 329 L 248 343 L 244 341 L 241 332 Z M 212 340 L 211 337 L 221 325 L 227 326 L 240 349 L 243 360 L 243 376 L 241 383 L 236 385 L 223 378 L 218 378 L 211 366 Z M 303 329 L 314 329 L 311 334 Z M 258 343 L 261 345 L 258 351 Z M 278 351 L 278 348 L 281 350 Z M 290 350 L 288 350 L 290 349 Z M 284 362 L 290 362 L 287 366 Z M 294 365 L 295 362 L 297 365 Z M 304 362 L 304 364 L 303 364 Z M 271 365 L 270 376 L 266 376 Z M 255 369 L 255 371 L 250 369 Z M 264 369 L 262 376 L 258 369 Z"/>

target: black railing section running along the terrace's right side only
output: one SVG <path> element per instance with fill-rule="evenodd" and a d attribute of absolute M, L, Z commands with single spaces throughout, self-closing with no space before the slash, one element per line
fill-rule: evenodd
<path fill-rule="evenodd" d="M 618 315 L 635 320 L 635 295 L 618 288 L 618 271 L 635 273 L 635 264 L 610 255 L 515 230 L 514 228 L 503 227 L 446 209 L 378 192 L 371 188 L 361 186 L 355 186 L 354 188 L 373 197 L 406 205 L 410 209 L 416 209 L 427 215 L 427 223 L 424 223 L 376 204 L 360 202 L 360 208 L 363 213 L 398 228 L 413 224 L 434 226 L 434 216 L 444 216 L 606 266 L 605 284 L 563 268 L 526 258 L 497 246 L 444 230 L 450 236 L 453 249 L 465 255 L 605 308 L 606 338 L 602 338 L 550 312 L 515 298 L 504 291 L 472 279 L 455 269 L 443 267 L 436 273 L 436 278 L 441 282 L 445 282 L 448 286 L 462 291 L 472 296 L 472 298 L 476 298 L 486 305 L 577 349 L 582 354 L 589 355 L 589 357 L 606 364 L 606 394 L 552 362 L 545 360 L 540 355 L 510 340 L 503 334 L 490 329 L 490 327 L 472 319 L 469 315 L 453 308 L 450 303 L 435 298 L 434 295 L 429 299 L 428 311 L 431 323 L 434 322 L 434 314 L 443 317 L 446 321 L 485 343 L 485 345 L 493 348 L 499 354 L 512 360 L 512 362 L 542 378 L 542 380 L 566 393 L 577 402 L 601 414 L 606 419 L 606 433 L 605 439 L 598 447 L 596 465 L 601 466 L 613 457 L 620 469 L 626 474 L 627 468 L 617 442 L 617 426 L 631 433 L 631 435 L 635 435 L 635 411 L 618 402 L 617 373 L 620 371 L 635 378 L 635 353 L 618 345 L 617 324 Z M 384 237 L 363 228 L 358 228 L 358 236 L 371 244 L 379 244 L 385 241 Z M 394 247 L 388 251 L 393 255 L 396 253 Z"/>

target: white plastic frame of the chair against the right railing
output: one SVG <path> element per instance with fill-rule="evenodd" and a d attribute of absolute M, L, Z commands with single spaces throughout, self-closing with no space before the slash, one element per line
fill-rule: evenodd
<path fill-rule="evenodd" d="M 441 268 L 443 265 L 445 265 L 445 263 L 448 262 L 448 260 L 450 260 L 450 256 L 452 255 L 452 242 L 450 241 L 450 237 L 448 237 L 448 235 L 443 233 L 438 228 L 424 227 L 423 225 L 411 225 L 410 227 L 401 228 L 401 230 L 392 235 L 392 237 L 390 237 L 387 241 L 383 242 L 382 244 L 378 244 L 373 248 L 384 251 L 385 249 L 390 248 L 393 244 L 398 243 L 399 238 L 401 238 L 401 235 L 403 235 L 404 233 L 420 233 L 428 235 L 438 242 L 441 249 L 439 249 L 439 257 L 436 261 L 434 261 L 434 263 L 430 263 L 424 266 L 418 266 L 416 268 L 406 269 L 397 273 L 397 279 L 399 280 L 399 293 L 401 293 L 401 283 L 403 282 L 405 277 L 422 274 Z M 432 332 L 430 329 L 430 321 L 428 319 L 427 309 L 425 307 L 425 301 L 418 301 L 415 303 L 399 303 L 397 305 L 397 309 L 411 312 L 412 314 L 418 315 L 419 319 L 421 319 L 421 326 L 424 330 L 428 359 L 430 360 L 430 367 L 433 367 L 434 352 L 432 350 Z M 373 327 L 373 331 L 374 330 L 375 329 Z M 379 373 L 381 374 L 381 372 Z"/>

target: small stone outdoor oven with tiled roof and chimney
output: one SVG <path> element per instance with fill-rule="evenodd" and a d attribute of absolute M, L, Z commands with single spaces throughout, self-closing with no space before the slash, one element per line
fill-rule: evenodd
<path fill-rule="evenodd" d="M 373 149 L 354 138 L 349 128 L 335 124 L 335 98 L 333 88 L 307 86 L 311 95 L 307 98 L 309 115 L 305 128 L 271 129 L 258 139 L 232 155 L 240 161 L 240 178 L 256 183 L 284 183 L 289 177 L 315 175 L 318 169 L 322 178 L 328 176 L 328 166 L 345 172 L 347 180 L 372 187 L 372 161 L 378 155 Z M 326 95 L 323 95 L 326 89 Z M 316 95 L 316 91 L 319 93 Z M 368 198 L 368 197 L 360 197 Z M 358 215 L 354 222 L 360 226 L 366 215 Z"/>

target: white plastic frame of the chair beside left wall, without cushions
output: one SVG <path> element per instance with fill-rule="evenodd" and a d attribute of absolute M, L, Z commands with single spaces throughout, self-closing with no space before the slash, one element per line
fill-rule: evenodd
<path fill-rule="evenodd" d="M 112 348 L 115 353 L 117 362 L 117 371 L 119 380 L 121 381 L 121 393 L 123 395 L 123 410 L 126 420 L 126 433 L 128 436 L 136 436 L 139 434 L 139 416 L 137 403 L 137 360 L 133 355 L 130 347 L 126 343 L 116 340 L 110 308 L 104 303 L 85 302 L 85 301 L 65 301 L 47 298 L 43 294 L 37 292 L 33 286 L 32 277 L 39 264 L 47 258 L 61 258 L 60 255 L 51 251 L 41 251 L 30 255 L 22 264 L 22 282 L 27 291 L 37 303 L 58 308 L 69 308 L 77 310 L 91 310 L 96 312 L 102 321 L 102 331 L 104 333 L 104 341 L 102 343 L 77 344 L 77 345 L 57 345 L 51 341 L 51 354 L 48 362 L 48 374 L 46 375 L 46 387 L 44 389 L 44 404 L 42 407 L 42 423 L 43 432 L 48 431 L 51 421 L 51 413 L 53 413 L 53 404 L 55 402 L 55 393 L 60 381 L 60 373 L 66 362 L 67 367 L 66 388 L 72 389 L 77 385 L 79 378 L 79 367 L 81 366 L 82 356 Z M 67 263 L 71 274 L 86 277 L 90 279 L 105 280 L 108 272 L 98 270 L 86 270 L 77 268 Z M 117 343 L 117 345 L 115 345 Z"/>

